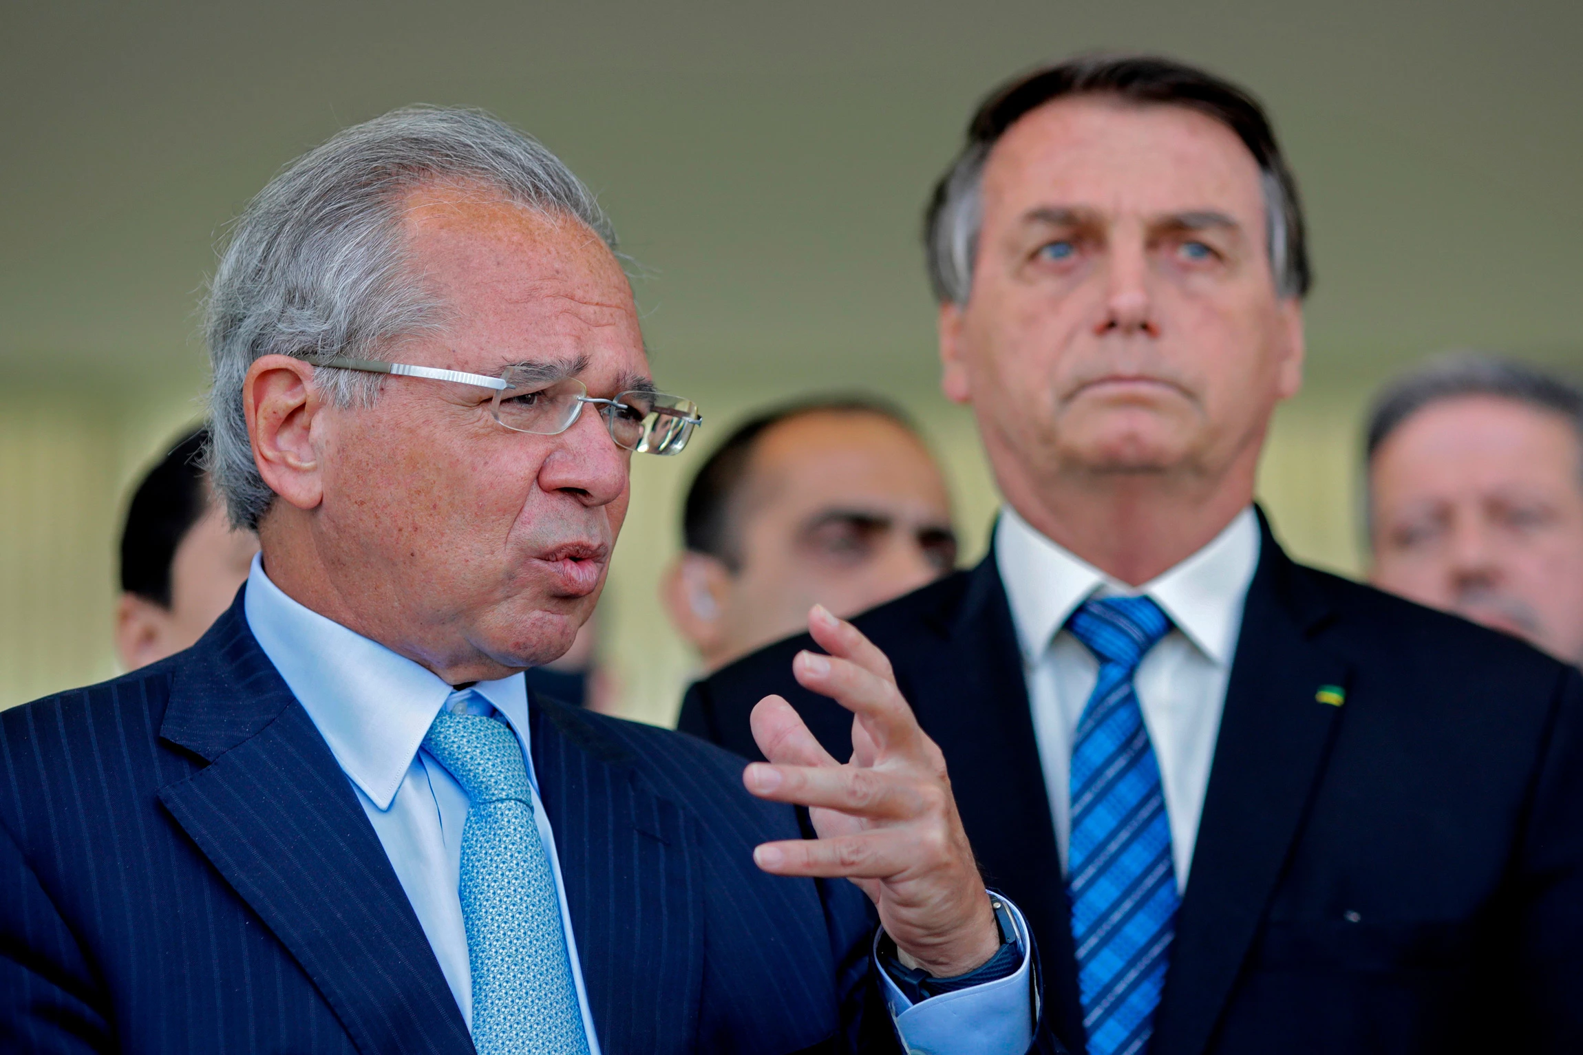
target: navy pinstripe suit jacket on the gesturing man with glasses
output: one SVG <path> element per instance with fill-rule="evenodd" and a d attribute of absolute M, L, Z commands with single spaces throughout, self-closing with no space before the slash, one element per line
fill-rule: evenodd
<path fill-rule="evenodd" d="M 867 900 L 754 867 L 754 845 L 799 829 L 742 789 L 741 759 L 530 715 L 606 1055 L 896 1047 Z M 473 1050 L 241 601 L 188 652 L 0 713 L 0 1050 Z"/>

